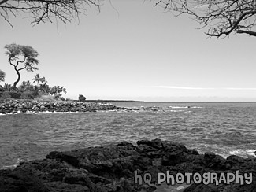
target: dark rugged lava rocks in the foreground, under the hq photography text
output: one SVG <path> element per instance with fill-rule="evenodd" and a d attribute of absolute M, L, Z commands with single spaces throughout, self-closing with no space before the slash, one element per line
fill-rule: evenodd
<path fill-rule="evenodd" d="M 194 183 L 186 186 L 187 188 L 181 182 L 170 190 L 165 183 L 158 185 L 160 172 L 169 172 L 175 178 L 179 174 L 213 173 L 216 178 L 213 179 L 213 183 L 208 184 L 204 183 L 205 180 L 194 180 Z M 239 178 L 239 183 L 236 183 L 237 175 L 230 183 L 224 178 L 221 179 L 221 175 L 234 175 L 237 172 L 244 175 L 243 178 Z M 139 185 L 139 178 L 143 181 L 143 176 L 149 173 L 152 176 L 150 182 L 147 180 L 146 183 L 142 182 Z M 219 183 L 214 183 L 217 179 Z M 185 178 L 183 182 L 190 180 L 191 178 Z M 137 145 L 121 142 L 112 146 L 88 147 L 65 152 L 53 151 L 46 159 L 23 162 L 13 170 L 0 170 L 0 191 L 249 192 L 256 191 L 256 158 L 244 159 L 232 155 L 224 159 L 214 153 L 199 154 L 198 151 L 189 150 L 180 143 L 160 139 L 138 141 Z"/>

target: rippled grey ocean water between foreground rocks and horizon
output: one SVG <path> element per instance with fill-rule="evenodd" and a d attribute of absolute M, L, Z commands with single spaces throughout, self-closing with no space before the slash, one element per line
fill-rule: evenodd
<path fill-rule="evenodd" d="M 256 102 L 113 102 L 135 108 L 95 113 L 0 115 L 0 168 L 53 150 L 161 138 L 199 153 L 254 157 Z"/>

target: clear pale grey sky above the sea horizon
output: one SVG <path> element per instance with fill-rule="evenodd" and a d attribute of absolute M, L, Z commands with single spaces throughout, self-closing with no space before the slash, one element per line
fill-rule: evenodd
<path fill-rule="evenodd" d="M 64 86 L 65 98 L 147 102 L 256 102 L 256 39 L 249 35 L 209 38 L 207 28 L 173 17 L 150 1 L 105 1 L 80 22 L 30 25 L 23 16 L 11 28 L 0 18 L 3 83 L 17 74 L 4 46 L 32 46 L 39 70 L 21 71 L 21 81 L 39 73 Z"/>

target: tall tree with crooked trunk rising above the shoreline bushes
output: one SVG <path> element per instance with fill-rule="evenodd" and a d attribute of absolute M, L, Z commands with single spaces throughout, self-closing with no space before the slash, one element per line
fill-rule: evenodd
<path fill-rule="evenodd" d="M 9 64 L 13 66 L 18 75 L 17 81 L 13 83 L 13 87 L 16 88 L 20 81 L 21 70 L 26 69 L 28 72 L 33 72 L 38 69 L 35 65 L 39 64 L 39 60 L 35 57 L 38 57 L 39 54 L 32 46 L 20 46 L 12 43 L 6 45 L 5 48 L 7 49 L 6 55 L 9 57 Z M 16 62 L 16 64 L 13 64 L 13 62 Z M 23 67 L 18 68 L 20 64 L 23 64 Z"/>

